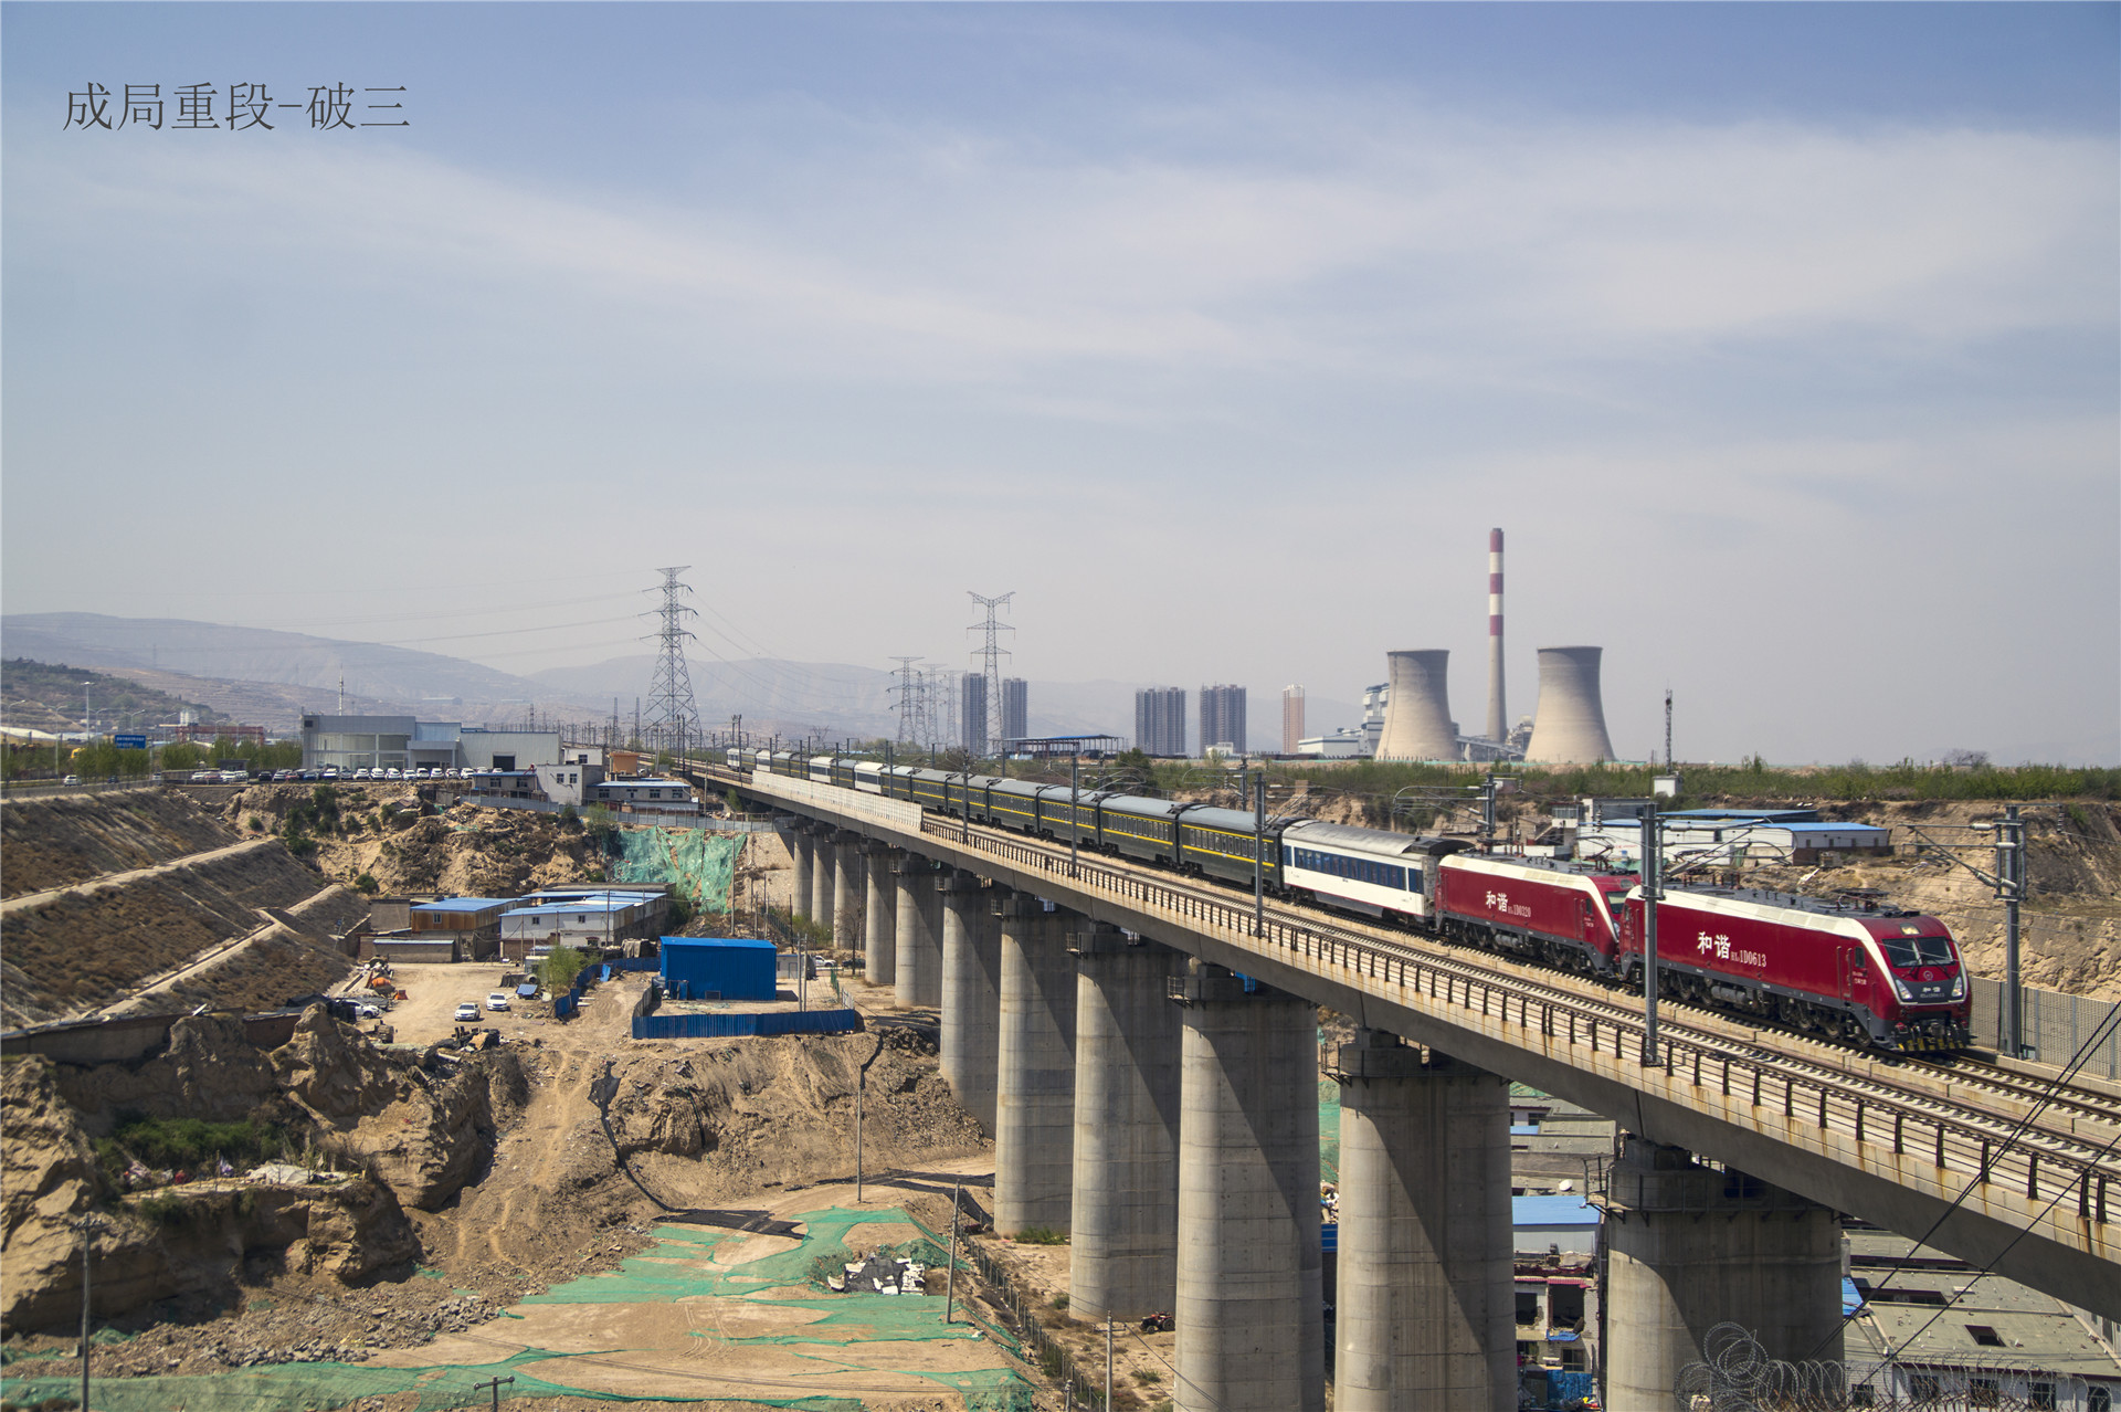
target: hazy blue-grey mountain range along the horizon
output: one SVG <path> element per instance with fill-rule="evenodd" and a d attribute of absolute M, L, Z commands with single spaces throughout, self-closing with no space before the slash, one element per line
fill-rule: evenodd
<path fill-rule="evenodd" d="M 119 672 L 271 729 L 293 729 L 305 710 L 333 710 L 341 678 L 350 712 L 467 723 L 522 721 L 532 710 L 577 723 L 617 712 L 630 727 L 634 704 L 647 706 L 655 676 L 651 653 L 515 676 L 380 642 L 102 613 L 0 617 L 0 655 Z M 766 736 L 897 736 L 893 681 L 887 670 L 840 661 L 691 664 L 694 702 L 706 729 L 723 729 L 742 714 L 744 729 Z M 1147 683 L 1033 681 L 1031 734 L 1133 738 L 1139 685 Z M 1279 748 L 1279 687 L 1251 693 L 1249 706 L 1251 746 Z M 1360 706 L 1313 695 L 1307 729 L 1315 736 L 1360 717 Z"/>

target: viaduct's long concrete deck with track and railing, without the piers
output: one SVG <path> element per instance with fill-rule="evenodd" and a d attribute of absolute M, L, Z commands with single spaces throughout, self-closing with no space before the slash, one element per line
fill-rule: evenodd
<path fill-rule="evenodd" d="M 2059 1071 L 1873 1056 L 1434 937 L 778 776 L 719 784 L 874 835 L 1480 1064 L 2072 1304 L 2121 1317 L 2121 1098 Z M 2121 1215 L 2121 1213 L 2117 1213 Z"/>

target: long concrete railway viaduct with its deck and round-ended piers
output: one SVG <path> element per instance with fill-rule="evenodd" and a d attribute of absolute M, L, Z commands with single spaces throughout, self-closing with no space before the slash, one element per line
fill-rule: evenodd
<path fill-rule="evenodd" d="M 797 818 L 797 907 L 995 1136 L 995 1225 L 1067 1230 L 1069 1310 L 1177 1317 L 1181 1412 L 1324 1406 L 1315 1007 L 1340 1083 L 1336 1406 L 1517 1406 L 1508 1079 L 1618 1119 L 1608 1406 L 1671 1406 L 1720 1321 L 1839 1359 L 1837 1211 L 2121 1317 L 2121 1092 L 1879 1060 L 1487 952 L 708 767 Z M 808 899 L 808 901 L 804 901 Z"/>

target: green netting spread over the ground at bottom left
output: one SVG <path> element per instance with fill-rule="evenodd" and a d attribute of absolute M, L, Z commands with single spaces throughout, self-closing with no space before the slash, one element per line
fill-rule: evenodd
<path fill-rule="evenodd" d="M 791 1323 L 783 1334 L 723 1336 L 723 1344 L 778 1344 L 819 1376 L 844 1374 L 865 1363 L 859 1344 L 908 1340 L 986 1340 L 1010 1353 L 1018 1344 L 993 1325 L 974 1325 L 963 1306 L 957 1321 L 944 1323 L 944 1300 L 933 1295 L 825 1293 L 821 1281 L 853 1257 L 855 1245 L 910 1255 L 923 1264 L 946 1259 L 935 1232 L 904 1211 L 812 1211 L 793 1217 L 802 1225 L 785 1249 L 740 1257 L 738 1247 L 757 1240 L 749 1232 L 706 1225 L 658 1225 L 655 1245 L 617 1270 L 568 1281 L 524 1304 L 672 1304 L 685 1298 L 719 1295 L 802 1312 L 806 1323 Z M 897 1228 L 895 1242 L 851 1242 L 857 1228 Z M 882 1236 L 887 1232 L 878 1232 Z M 963 1266 L 961 1266 L 963 1268 Z M 814 1295 L 810 1291 L 817 1291 Z M 496 1344 L 507 1342 L 507 1325 L 479 1334 Z M 694 1338 L 708 1338 L 694 1331 Z M 312 1412 L 344 1408 L 363 1397 L 414 1393 L 414 1412 L 448 1412 L 450 1408 L 486 1406 L 490 1391 L 477 1384 L 490 1378 L 515 1378 L 503 1387 L 509 1397 L 583 1397 L 592 1401 L 742 1401 L 793 1412 L 861 1412 L 861 1399 L 831 1393 L 806 1397 L 732 1395 L 704 1370 L 687 1374 L 668 1370 L 658 1393 L 611 1393 L 579 1387 L 571 1370 L 554 1367 L 539 1374 L 537 1365 L 571 1359 L 579 1365 L 615 1365 L 643 1372 L 649 1351 L 613 1348 L 600 1353 L 556 1353 L 524 1348 L 492 1363 L 448 1367 L 371 1367 L 361 1363 L 280 1363 L 208 1376 L 117 1378 L 95 1382 L 91 1401 L 98 1412 Z M 662 1351 L 668 1355 L 668 1348 Z M 687 1355 L 689 1357 L 689 1355 Z M 47 1397 L 78 1395 L 74 1378 L 21 1376 L 30 1359 L 11 1365 L 0 1378 L 0 1397 L 13 1404 L 36 1404 Z M 655 1367 L 655 1372 L 666 1372 Z M 579 1374 L 575 1374 L 579 1376 Z M 914 1370 L 914 1376 L 954 1391 L 967 1412 L 1031 1412 L 1033 1391 L 1010 1367 L 978 1370 Z"/>

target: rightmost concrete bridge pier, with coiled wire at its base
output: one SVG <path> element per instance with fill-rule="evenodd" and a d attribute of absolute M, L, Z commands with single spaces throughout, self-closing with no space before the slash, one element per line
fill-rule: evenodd
<path fill-rule="evenodd" d="M 1667 1408 L 1703 1338 L 1735 1323 L 1769 1359 L 1841 1361 L 1833 1211 L 1629 1136 L 1606 1175 L 1606 1406 Z"/>

